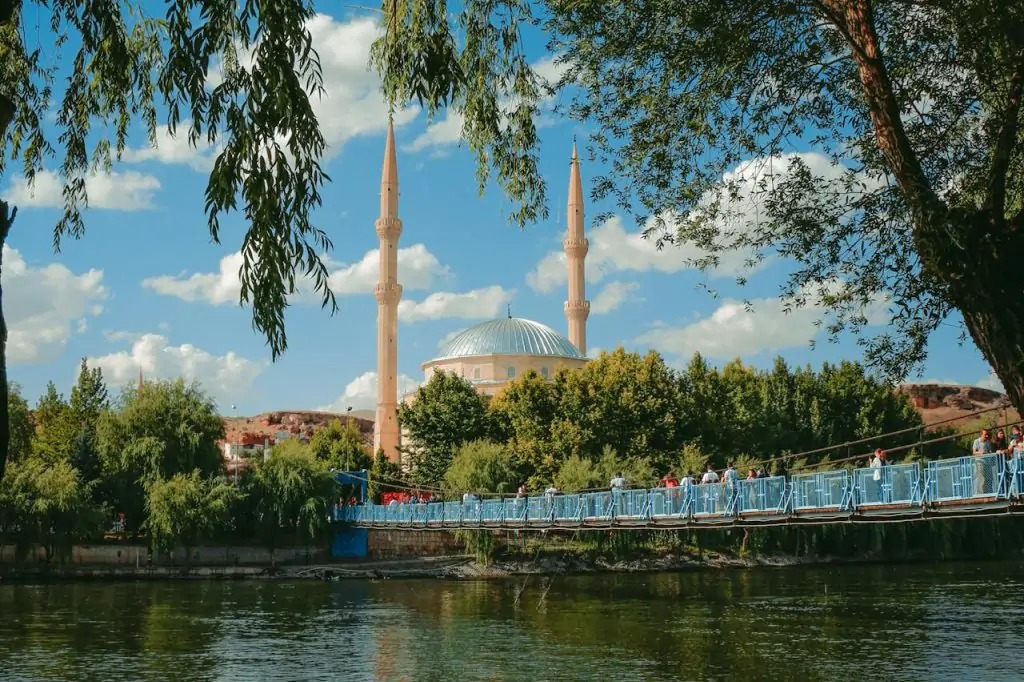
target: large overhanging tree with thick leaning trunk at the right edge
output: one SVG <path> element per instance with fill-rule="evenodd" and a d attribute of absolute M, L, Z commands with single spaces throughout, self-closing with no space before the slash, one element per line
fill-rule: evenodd
<path fill-rule="evenodd" d="M 522 39 L 540 25 L 606 164 L 595 199 L 694 267 L 742 282 L 788 259 L 785 301 L 819 305 L 891 378 L 958 311 L 1024 408 L 1019 0 L 470 1 L 456 22 L 446 6 L 387 0 L 374 63 L 395 101 L 464 115 L 517 217 L 543 197 Z"/>

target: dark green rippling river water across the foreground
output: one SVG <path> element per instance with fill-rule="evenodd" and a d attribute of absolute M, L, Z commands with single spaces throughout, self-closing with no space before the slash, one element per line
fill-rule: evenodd
<path fill-rule="evenodd" d="M 0 680 L 1024 679 L 1024 563 L 0 586 Z"/>

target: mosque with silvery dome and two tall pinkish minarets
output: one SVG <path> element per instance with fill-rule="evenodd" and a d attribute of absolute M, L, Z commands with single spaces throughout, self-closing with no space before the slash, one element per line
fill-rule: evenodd
<path fill-rule="evenodd" d="M 437 357 L 422 365 L 425 379 L 437 372 L 454 372 L 464 377 L 481 393 L 494 395 L 510 381 L 534 370 L 550 379 L 560 368 L 578 370 L 587 363 L 587 300 L 584 275 L 590 243 L 584 236 L 583 184 L 575 141 L 569 165 L 568 236 L 563 243 L 568 267 L 568 297 L 565 319 L 568 338 L 550 327 L 531 319 L 508 317 L 492 319 L 457 334 L 444 344 Z M 374 452 L 383 450 L 394 462 L 399 460 L 398 444 L 398 162 L 394 129 L 388 124 L 381 173 L 380 217 L 376 222 L 380 239 L 380 274 L 374 294 L 377 297 L 377 415 L 374 420 Z M 412 400 L 415 393 L 402 396 Z"/>

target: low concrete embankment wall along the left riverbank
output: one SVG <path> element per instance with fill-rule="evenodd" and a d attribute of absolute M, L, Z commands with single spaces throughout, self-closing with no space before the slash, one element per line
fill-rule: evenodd
<path fill-rule="evenodd" d="M 184 550 L 178 550 L 173 557 L 173 563 L 183 561 Z M 327 552 L 324 549 L 296 547 L 281 549 L 276 552 L 278 563 L 315 563 L 324 561 Z M 46 560 L 46 552 L 37 547 L 23 559 L 26 563 L 42 563 Z M 70 562 L 78 565 L 103 566 L 145 566 L 148 561 L 148 548 L 144 545 L 78 545 L 72 550 Z M 12 546 L 0 546 L 0 563 L 15 562 L 15 552 Z M 171 563 L 167 557 L 154 557 L 157 565 Z M 236 566 L 236 565 L 269 565 L 270 552 L 262 547 L 200 547 L 193 550 L 191 563 L 203 566 Z"/>

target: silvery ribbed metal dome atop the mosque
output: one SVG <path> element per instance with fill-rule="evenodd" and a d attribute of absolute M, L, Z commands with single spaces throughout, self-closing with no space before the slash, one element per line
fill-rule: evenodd
<path fill-rule="evenodd" d="M 434 360 L 478 355 L 546 355 L 585 359 L 577 347 L 555 330 L 532 319 L 492 319 L 460 332 L 444 344 Z"/>

